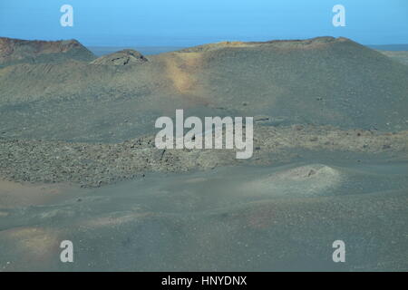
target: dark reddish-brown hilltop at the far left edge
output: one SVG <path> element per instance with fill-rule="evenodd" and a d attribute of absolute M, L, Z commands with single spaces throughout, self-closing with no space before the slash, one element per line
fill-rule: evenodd
<path fill-rule="evenodd" d="M 29 41 L 0 37 L 0 66 L 15 63 L 47 63 L 68 59 L 92 61 L 93 53 L 76 40 Z"/>

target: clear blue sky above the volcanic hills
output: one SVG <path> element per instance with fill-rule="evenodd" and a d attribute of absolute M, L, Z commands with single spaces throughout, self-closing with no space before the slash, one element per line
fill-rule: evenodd
<path fill-rule="evenodd" d="M 73 6 L 73 27 L 60 7 Z M 332 7 L 345 5 L 345 27 Z M 85 45 L 189 46 L 322 35 L 408 43 L 407 0 L 0 0 L 0 36 Z"/>

